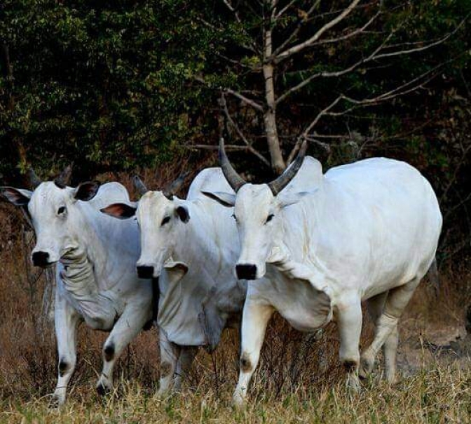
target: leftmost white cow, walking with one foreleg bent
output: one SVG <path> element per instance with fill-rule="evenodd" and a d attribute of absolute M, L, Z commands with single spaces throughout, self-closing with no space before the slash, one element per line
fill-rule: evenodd
<path fill-rule="evenodd" d="M 139 279 L 139 230 L 133 220 L 120 222 L 100 208 L 129 201 L 123 185 L 41 183 L 34 192 L 1 187 L 17 206 L 27 206 L 36 232 L 34 265 L 57 263 L 55 333 L 59 377 L 53 399 L 63 404 L 76 365 L 77 326 L 85 321 L 95 330 L 111 331 L 103 346 L 103 371 L 97 390 L 113 385 L 113 367 L 123 349 L 152 319 L 152 283 Z M 96 194 L 96 195 L 95 195 Z"/>

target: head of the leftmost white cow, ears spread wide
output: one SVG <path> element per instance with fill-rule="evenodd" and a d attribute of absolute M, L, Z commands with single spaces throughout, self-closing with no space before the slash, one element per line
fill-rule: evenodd
<path fill-rule="evenodd" d="M 81 183 L 68 187 L 61 180 L 37 182 L 34 191 L 0 187 L 0 193 L 15 206 L 27 208 L 36 232 L 32 251 L 35 266 L 48 267 L 76 246 L 76 234 L 81 229 L 78 200 L 88 201 L 97 194 L 100 183 Z"/>

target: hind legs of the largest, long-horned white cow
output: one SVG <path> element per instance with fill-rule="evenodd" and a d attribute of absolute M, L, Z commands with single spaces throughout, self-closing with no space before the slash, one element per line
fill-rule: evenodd
<path fill-rule="evenodd" d="M 364 364 L 364 367 L 367 369 L 371 369 L 378 351 L 385 345 L 386 340 L 390 340 L 388 341 L 388 345 L 385 345 L 385 355 L 388 355 L 388 359 L 386 359 L 386 376 L 391 383 L 395 382 L 396 353 L 393 355 L 393 364 L 390 355 L 393 349 L 395 352 L 397 351 L 397 322 L 399 322 L 402 312 L 407 306 L 407 303 L 409 303 L 420 281 L 419 278 L 415 278 L 407 284 L 395 287 L 395 289 L 389 291 L 383 313 L 377 320 L 374 340 L 362 355 L 362 364 Z"/>

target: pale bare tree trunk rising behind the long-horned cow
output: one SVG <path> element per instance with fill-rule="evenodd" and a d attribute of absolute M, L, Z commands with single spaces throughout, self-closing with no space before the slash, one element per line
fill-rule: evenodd
<path fill-rule="evenodd" d="M 280 139 L 278 138 L 278 129 L 276 128 L 276 103 L 275 103 L 275 84 L 273 81 L 273 62 L 271 60 L 271 22 L 264 29 L 264 79 L 265 79 L 265 100 L 266 108 L 264 110 L 264 125 L 268 149 L 270 150 L 271 167 L 275 173 L 285 171 L 285 161 L 280 149 Z"/>

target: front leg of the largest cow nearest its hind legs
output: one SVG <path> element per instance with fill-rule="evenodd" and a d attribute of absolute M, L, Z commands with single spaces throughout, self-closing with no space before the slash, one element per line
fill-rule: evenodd
<path fill-rule="evenodd" d="M 340 361 L 348 371 L 347 385 L 360 390 L 358 366 L 360 364 L 360 336 L 362 333 L 362 304 L 360 298 L 340 302 L 336 310 L 340 336 Z"/>

